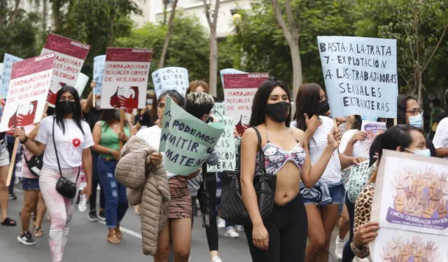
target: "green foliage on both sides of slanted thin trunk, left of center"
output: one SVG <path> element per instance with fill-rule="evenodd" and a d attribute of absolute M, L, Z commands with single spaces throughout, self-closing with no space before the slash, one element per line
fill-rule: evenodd
<path fill-rule="evenodd" d="M 177 13 L 179 12 L 179 13 Z M 176 12 L 173 34 L 169 41 L 165 67 L 185 67 L 189 71 L 190 80 L 208 79 L 209 71 L 209 41 L 204 27 L 198 19 Z M 116 46 L 154 48 L 151 73 L 157 70 L 160 60 L 166 25 L 147 23 L 143 27 L 133 29 L 132 34 L 116 40 Z M 148 85 L 153 88 L 153 83 Z"/>

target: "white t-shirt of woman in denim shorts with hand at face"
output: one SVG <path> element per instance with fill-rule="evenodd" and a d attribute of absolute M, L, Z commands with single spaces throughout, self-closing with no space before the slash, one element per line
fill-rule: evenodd
<path fill-rule="evenodd" d="M 322 120 L 322 125 L 317 127 L 313 137 L 308 142 L 309 155 L 311 158 L 311 165 L 321 158 L 323 151 L 328 144 L 328 133 L 333 127 L 333 120 L 328 116 L 319 116 Z M 328 165 L 323 172 L 323 175 L 319 181 L 323 181 L 327 184 L 337 184 L 341 181 L 341 163 L 339 161 L 339 152 L 335 150 L 328 161 Z"/>

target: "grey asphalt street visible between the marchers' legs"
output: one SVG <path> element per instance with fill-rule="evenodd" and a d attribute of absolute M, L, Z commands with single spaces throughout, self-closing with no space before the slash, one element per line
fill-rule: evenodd
<path fill-rule="evenodd" d="M 21 188 L 21 186 L 20 186 Z M 19 212 L 23 204 L 22 191 L 15 191 L 17 200 L 10 200 L 9 216 L 16 219 L 20 225 Z M 191 261 L 209 261 L 209 252 L 205 230 L 202 228 L 200 217 L 193 229 Z M 64 262 L 108 261 L 108 262 L 139 262 L 153 261 L 151 256 L 141 253 L 140 220 L 133 208 L 128 209 L 121 225 L 124 240 L 120 245 L 106 242 L 106 226 L 98 222 L 90 222 L 87 213 L 80 213 L 76 208 L 71 222 L 69 241 L 64 254 Z M 19 244 L 17 237 L 20 226 L 0 226 L 0 261 L 2 262 L 41 262 L 50 261 L 48 249 L 49 221 L 43 223 L 44 236 L 36 238 L 35 246 L 27 247 Z M 223 261 L 251 261 L 244 233 L 238 239 L 224 236 L 224 230 L 219 230 L 219 249 Z M 333 233 L 335 237 L 335 232 Z M 332 247 L 333 251 L 334 247 Z M 332 261 L 332 259 L 330 259 Z"/>

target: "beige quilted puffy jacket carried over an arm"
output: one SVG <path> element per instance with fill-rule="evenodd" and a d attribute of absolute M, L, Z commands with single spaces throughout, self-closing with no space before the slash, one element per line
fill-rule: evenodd
<path fill-rule="evenodd" d="M 115 176 L 127 187 L 127 200 L 139 205 L 143 253 L 155 255 L 159 231 L 168 219 L 169 186 L 165 167 L 150 163 L 151 153 L 158 152 L 143 139 L 133 136 L 123 146 Z"/>

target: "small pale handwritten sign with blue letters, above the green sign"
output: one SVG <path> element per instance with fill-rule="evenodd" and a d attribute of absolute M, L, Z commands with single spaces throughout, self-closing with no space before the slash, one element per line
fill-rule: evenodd
<path fill-rule="evenodd" d="M 188 84 L 188 69 L 183 67 L 165 67 L 153 71 L 153 84 L 155 95 L 159 95 L 166 90 L 177 90 L 185 97 Z"/>

